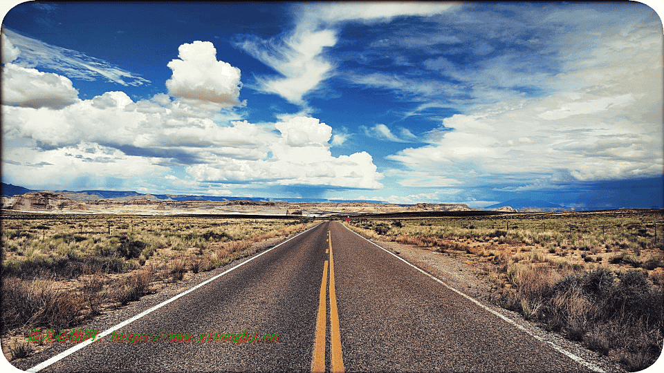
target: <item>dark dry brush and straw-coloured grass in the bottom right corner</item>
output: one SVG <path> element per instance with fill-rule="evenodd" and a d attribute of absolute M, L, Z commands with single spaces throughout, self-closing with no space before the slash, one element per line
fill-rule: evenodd
<path fill-rule="evenodd" d="M 532 263 L 508 265 L 507 271 L 513 287 L 501 293 L 504 307 L 600 354 L 612 352 L 629 371 L 645 369 L 661 354 L 664 289 L 644 271 L 596 267 L 561 276 Z"/>

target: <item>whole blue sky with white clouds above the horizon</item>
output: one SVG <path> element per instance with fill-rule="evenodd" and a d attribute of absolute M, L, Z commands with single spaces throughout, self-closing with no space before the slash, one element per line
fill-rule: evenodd
<path fill-rule="evenodd" d="M 6 12 L 6 183 L 664 207 L 663 28 L 643 3 Z"/>

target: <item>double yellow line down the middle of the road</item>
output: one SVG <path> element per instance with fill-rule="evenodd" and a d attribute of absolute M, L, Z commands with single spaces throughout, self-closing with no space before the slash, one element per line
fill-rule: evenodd
<path fill-rule="evenodd" d="M 341 352 L 341 336 L 339 331 L 339 314 L 337 312 L 337 296 L 334 292 L 334 259 L 332 256 L 332 235 L 327 231 L 330 252 L 330 326 L 331 326 L 331 363 L 332 372 L 344 372 L 344 358 Z M 325 333 L 327 324 L 326 283 L 327 266 L 325 260 L 323 279 L 320 284 L 320 298 L 318 303 L 318 318 L 316 321 L 316 341 L 313 349 L 311 372 L 325 372 Z"/>

